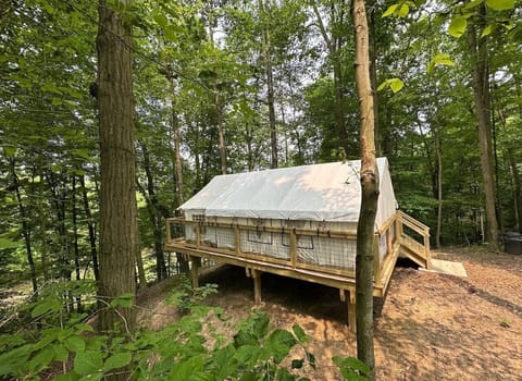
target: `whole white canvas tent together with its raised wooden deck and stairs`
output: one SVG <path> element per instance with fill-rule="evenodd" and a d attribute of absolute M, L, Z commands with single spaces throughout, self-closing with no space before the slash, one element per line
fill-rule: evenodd
<path fill-rule="evenodd" d="M 215 176 L 166 220 L 166 250 L 244 267 L 261 300 L 271 272 L 339 290 L 355 330 L 359 160 Z M 385 158 L 377 159 L 373 295 L 384 296 L 399 253 L 430 268 L 430 229 L 397 210 Z M 414 233 L 410 235 L 409 233 Z"/>

